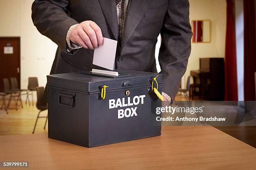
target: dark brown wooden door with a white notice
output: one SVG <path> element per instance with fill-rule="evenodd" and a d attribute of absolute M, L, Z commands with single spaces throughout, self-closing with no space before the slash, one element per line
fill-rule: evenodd
<path fill-rule="evenodd" d="M 20 87 L 20 37 L 0 37 L 0 92 L 3 78 L 16 77 Z"/>

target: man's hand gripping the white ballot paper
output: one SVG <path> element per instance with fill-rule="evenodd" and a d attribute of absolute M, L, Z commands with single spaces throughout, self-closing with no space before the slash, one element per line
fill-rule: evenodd
<path fill-rule="evenodd" d="M 86 49 L 94 50 L 103 45 L 100 27 L 93 21 L 84 21 L 77 25 L 71 32 L 69 40 Z"/>

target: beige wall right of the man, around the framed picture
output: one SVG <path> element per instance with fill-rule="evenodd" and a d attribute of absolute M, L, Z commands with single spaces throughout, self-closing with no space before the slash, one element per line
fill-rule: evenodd
<path fill-rule="evenodd" d="M 182 80 L 185 87 L 190 70 L 199 69 L 201 57 L 224 57 L 226 31 L 226 1 L 225 0 L 189 0 L 190 23 L 192 20 L 211 20 L 210 43 L 192 43 L 187 72 Z"/>

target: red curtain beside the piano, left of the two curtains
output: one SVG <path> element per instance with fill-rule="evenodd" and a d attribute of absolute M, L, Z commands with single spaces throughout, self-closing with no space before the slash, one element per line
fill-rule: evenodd
<path fill-rule="evenodd" d="M 225 45 L 225 100 L 237 101 L 237 70 L 236 70 L 236 30 L 235 5 L 227 0 L 227 28 Z"/>

